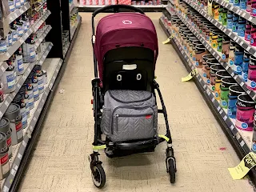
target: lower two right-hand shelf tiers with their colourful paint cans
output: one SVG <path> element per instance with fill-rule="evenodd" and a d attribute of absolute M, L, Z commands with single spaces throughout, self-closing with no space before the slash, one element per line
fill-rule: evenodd
<path fill-rule="evenodd" d="M 177 44 L 175 50 L 185 66 L 197 69 L 194 81 L 239 157 L 256 153 L 252 85 L 256 58 L 204 17 L 205 11 L 199 10 L 197 3 L 191 6 L 187 2 L 174 3 L 174 15 L 163 11 L 160 24 L 167 36 L 172 34 L 170 42 Z M 256 182 L 256 169 L 250 170 L 250 176 Z"/>

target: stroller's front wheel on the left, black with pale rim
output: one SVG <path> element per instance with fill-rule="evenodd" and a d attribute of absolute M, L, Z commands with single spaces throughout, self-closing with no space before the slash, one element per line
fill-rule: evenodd
<path fill-rule="evenodd" d="M 103 170 L 102 165 L 96 164 L 94 166 L 94 173 L 91 173 L 91 177 L 93 179 L 94 185 L 97 186 L 99 189 L 102 189 L 106 183 L 106 174 Z"/>

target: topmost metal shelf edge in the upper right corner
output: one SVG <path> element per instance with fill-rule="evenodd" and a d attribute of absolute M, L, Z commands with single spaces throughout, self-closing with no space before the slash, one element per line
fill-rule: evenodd
<path fill-rule="evenodd" d="M 225 2 L 223 0 L 214 0 L 214 2 L 218 2 L 218 4 L 225 6 L 226 9 L 229 9 L 233 11 L 235 14 L 238 14 L 239 16 L 241 16 L 242 18 L 245 18 L 246 20 L 256 24 L 256 18 L 250 16 L 250 13 L 247 12 L 246 10 L 241 10 L 240 7 L 234 6 L 230 2 Z"/>

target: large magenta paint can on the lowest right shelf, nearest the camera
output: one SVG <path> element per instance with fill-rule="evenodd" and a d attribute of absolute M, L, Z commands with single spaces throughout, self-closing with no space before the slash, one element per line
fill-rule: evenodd
<path fill-rule="evenodd" d="M 238 95 L 235 126 L 239 130 L 254 130 L 255 102 L 248 94 Z"/>

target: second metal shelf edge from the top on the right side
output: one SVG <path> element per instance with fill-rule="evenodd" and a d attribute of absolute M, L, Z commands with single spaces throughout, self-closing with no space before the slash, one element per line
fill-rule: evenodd
<path fill-rule="evenodd" d="M 256 47 L 250 46 L 250 42 L 246 42 L 245 38 L 239 37 L 237 33 L 227 29 L 226 26 L 223 26 L 220 22 L 216 21 L 209 14 L 207 14 L 205 10 L 202 10 L 202 8 L 200 8 L 194 2 L 191 2 L 190 0 L 182 1 L 193 7 L 194 10 L 197 10 L 199 14 L 202 14 L 202 16 L 208 19 L 212 24 L 214 24 L 214 26 L 217 26 L 219 30 L 222 30 L 223 33 L 227 34 L 230 38 L 242 46 L 243 49 L 247 50 L 250 54 L 253 54 L 256 57 Z"/>

